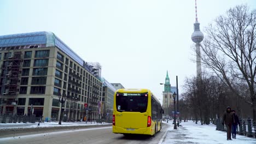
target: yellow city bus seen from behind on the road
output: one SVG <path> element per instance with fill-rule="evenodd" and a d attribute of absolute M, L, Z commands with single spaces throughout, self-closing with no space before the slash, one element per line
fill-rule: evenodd
<path fill-rule="evenodd" d="M 149 89 L 118 89 L 114 94 L 113 133 L 155 135 L 162 128 L 159 100 Z"/>

